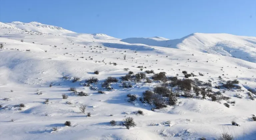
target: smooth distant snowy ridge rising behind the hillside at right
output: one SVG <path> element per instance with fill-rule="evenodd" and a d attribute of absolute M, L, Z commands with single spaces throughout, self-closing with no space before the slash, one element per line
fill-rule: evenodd
<path fill-rule="evenodd" d="M 236 36 L 223 33 L 194 33 L 174 40 L 158 40 L 155 38 L 126 38 L 120 41 L 127 43 L 140 43 L 150 46 L 195 50 L 256 62 L 256 37 Z"/>

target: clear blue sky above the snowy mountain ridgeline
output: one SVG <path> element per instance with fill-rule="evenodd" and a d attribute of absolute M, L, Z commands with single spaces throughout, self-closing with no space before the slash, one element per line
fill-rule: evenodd
<path fill-rule="evenodd" d="M 256 0 L 0 0 L 0 21 L 37 21 L 117 38 L 256 36 Z"/>

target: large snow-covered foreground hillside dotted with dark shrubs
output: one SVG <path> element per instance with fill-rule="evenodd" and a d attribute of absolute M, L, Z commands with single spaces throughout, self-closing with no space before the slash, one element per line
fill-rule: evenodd
<path fill-rule="evenodd" d="M 237 140 L 255 139 L 255 63 L 197 49 L 130 44 L 105 34 L 52 30 L 56 34 L 0 23 L 0 140 L 214 140 L 225 130 Z M 150 70 L 165 72 L 167 79 L 153 79 Z M 129 71 L 137 75 L 120 79 Z M 110 76 L 117 80 L 105 86 Z M 92 77 L 98 82 L 88 81 Z M 176 78 L 188 89 L 174 85 Z M 189 79 L 190 84 L 184 83 Z M 228 80 L 236 82 L 229 89 L 224 87 Z M 157 87 L 168 89 L 168 96 Z M 145 96 L 146 90 L 154 91 L 152 96 Z M 87 106 L 85 114 L 81 104 Z M 156 108 L 159 104 L 165 106 Z M 126 117 L 136 126 L 126 129 Z"/>

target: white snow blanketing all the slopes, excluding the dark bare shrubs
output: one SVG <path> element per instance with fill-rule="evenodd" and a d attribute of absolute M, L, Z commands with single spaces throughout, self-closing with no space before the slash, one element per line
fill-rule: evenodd
<path fill-rule="evenodd" d="M 256 101 L 247 95 L 249 88 L 256 89 L 255 37 L 196 33 L 177 40 L 161 37 L 125 40 L 106 34 L 75 33 L 37 22 L 0 23 L 0 42 L 4 44 L 0 49 L 0 104 L 3 106 L 0 139 L 196 140 L 205 137 L 213 140 L 223 129 L 237 135 L 238 140 L 255 139 L 256 122 L 251 117 L 256 115 Z M 241 59 L 233 58 L 234 55 Z M 128 73 L 124 68 L 141 72 L 137 68 L 141 65 L 147 67 L 143 71 L 164 71 L 167 76 L 178 74 L 179 79 L 184 78 L 183 70 L 196 75 L 204 73 L 189 79 L 211 80 L 214 92 L 224 90 L 214 88 L 219 85 L 218 76 L 226 81 L 238 79 L 241 90 L 222 93 L 231 98 L 229 101 L 236 102 L 234 106 L 230 104 L 230 108 L 223 105 L 224 100 L 179 97 L 176 106 L 151 111 L 147 103 L 127 102 L 126 95 L 141 97 L 143 91 L 161 83 L 132 82 L 132 88 L 122 88 L 119 80 L 112 84 L 114 90 L 104 90 L 105 94 L 80 85 L 94 76 L 100 81 L 92 86 L 102 90 L 101 83 L 107 77 L 119 79 Z M 99 75 L 93 73 L 95 70 L 99 70 Z M 71 79 L 65 80 L 63 76 Z M 81 80 L 72 83 L 73 77 Z M 77 96 L 68 90 L 70 87 L 90 95 Z M 43 94 L 37 95 L 37 90 Z M 68 99 L 62 99 L 62 94 L 68 95 Z M 234 97 L 236 94 L 243 98 Z M 44 104 L 45 99 L 49 99 L 48 104 Z M 67 101 L 72 105 L 66 104 Z M 15 105 L 21 103 L 25 107 L 19 110 Z M 80 113 L 80 104 L 87 105 L 86 114 Z M 142 110 L 144 115 L 135 114 L 137 110 Z M 92 116 L 87 117 L 87 112 Z M 136 127 L 128 130 L 125 126 L 110 126 L 111 120 L 121 122 L 127 116 L 134 118 Z M 65 121 L 71 121 L 71 126 L 65 126 Z M 170 124 L 165 124 L 166 121 Z M 231 121 L 240 127 L 232 126 Z M 57 131 L 53 131 L 53 127 L 57 127 Z"/>

